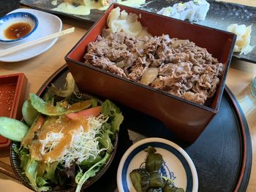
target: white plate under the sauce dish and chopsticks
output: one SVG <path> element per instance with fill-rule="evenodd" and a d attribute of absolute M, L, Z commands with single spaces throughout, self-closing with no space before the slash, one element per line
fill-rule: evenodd
<path fill-rule="evenodd" d="M 62 22 L 60 18 L 58 18 L 55 15 L 52 15 L 48 12 L 42 12 L 35 9 L 15 9 L 12 12 L 30 12 L 31 14 L 34 14 L 38 19 L 38 27 L 37 30 L 34 31 L 33 34 L 31 34 L 30 37 L 27 39 L 24 39 L 22 42 L 17 42 L 13 44 L 1 44 L 0 45 L 0 51 L 5 50 L 10 47 L 14 47 L 16 45 L 23 44 L 25 42 L 31 42 L 35 39 L 39 39 L 41 37 L 48 36 L 50 34 L 54 34 L 56 32 L 61 31 L 62 29 Z M 12 13 L 10 12 L 10 13 Z M 48 50 L 50 47 L 54 45 L 54 43 L 57 41 L 58 38 L 50 39 L 47 42 L 42 42 L 39 45 L 35 45 L 32 47 L 28 47 L 22 51 L 19 51 L 17 53 L 12 53 L 10 55 L 5 55 L 3 57 L 0 57 L 0 61 L 4 62 L 17 62 L 17 61 L 23 61 L 29 58 L 33 58 L 41 53 L 44 53 L 46 50 Z"/>

